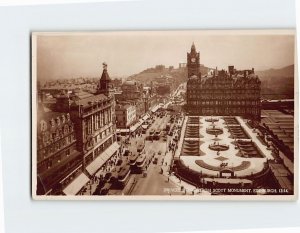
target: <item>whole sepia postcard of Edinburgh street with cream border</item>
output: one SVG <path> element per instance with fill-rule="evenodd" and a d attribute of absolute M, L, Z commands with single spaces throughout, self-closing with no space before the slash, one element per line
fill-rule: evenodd
<path fill-rule="evenodd" d="M 294 30 L 31 41 L 33 199 L 297 199 Z"/>

